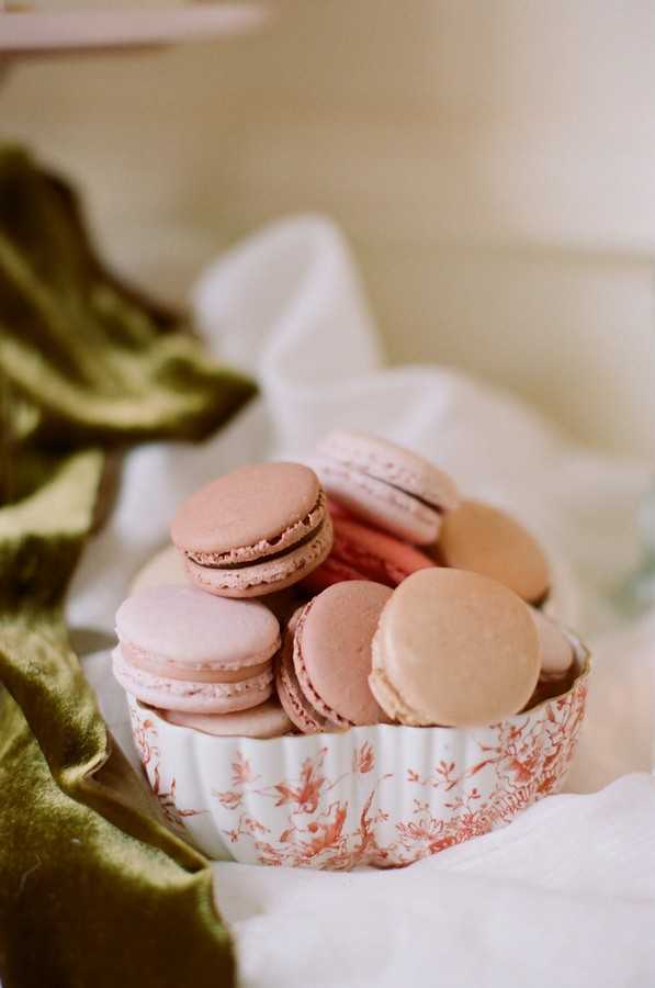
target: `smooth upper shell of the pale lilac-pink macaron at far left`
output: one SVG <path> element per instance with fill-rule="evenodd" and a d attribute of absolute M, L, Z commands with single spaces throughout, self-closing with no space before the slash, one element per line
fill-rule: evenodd
<path fill-rule="evenodd" d="M 151 661 L 190 671 L 257 665 L 280 648 L 278 619 L 262 604 L 217 599 L 193 586 L 128 597 L 116 613 L 116 632 Z"/>

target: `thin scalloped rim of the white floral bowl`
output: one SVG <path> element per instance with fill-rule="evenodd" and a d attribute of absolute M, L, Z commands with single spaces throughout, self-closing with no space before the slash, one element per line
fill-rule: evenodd
<path fill-rule="evenodd" d="M 575 662 L 578 667 L 577 673 L 576 673 L 573 682 L 568 686 L 568 688 L 565 689 L 564 693 L 558 693 L 558 694 L 555 694 L 554 696 L 546 697 L 545 699 L 541 700 L 539 704 L 535 704 L 533 707 L 530 707 L 527 710 L 518 710 L 516 714 L 510 714 L 509 717 L 502 718 L 502 720 L 495 721 L 494 723 L 481 723 L 481 725 L 476 725 L 475 727 L 458 728 L 458 727 L 447 727 L 444 725 L 441 725 L 441 726 L 433 725 L 430 727 L 413 727 L 411 725 L 406 725 L 406 723 L 369 723 L 369 725 L 353 725 L 352 727 L 347 728 L 345 731 L 318 731 L 314 734 L 289 733 L 289 734 L 280 734 L 276 738 L 250 738 L 247 734 L 224 734 L 224 736 L 210 734 L 207 731 L 201 731 L 199 728 L 192 728 L 192 727 L 189 727 L 188 725 L 173 723 L 172 721 L 167 720 L 166 717 L 162 717 L 160 710 L 157 707 L 151 707 L 148 704 L 143 703 L 142 700 L 137 699 L 136 696 L 127 693 L 127 691 L 125 692 L 125 694 L 126 694 L 127 703 L 129 706 L 134 705 L 134 706 L 139 707 L 142 710 L 147 710 L 148 715 L 151 716 L 153 718 L 155 718 L 157 720 L 157 722 L 163 727 L 165 730 L 172 731 L 173 734 L 176 732 L 178 732 L 180 734 L 185 734 L 185 733 L 200 734 L 203 738 L 210 738 L 212 740 L 212 742 L 216 742 L 217 744 L 225 744 L 225 745 L 234 744 L 235 742 L 242 742 L 242 741 L 248 741 L 249 743 L 251 742 L 256 745 L 271 744 L 271 743 L 274 744 L 274 743 L 279 743 L 280 741 L 284 741 L 284 742 L 293 744 L 296 742 L 306 741 L 308 738 L 321 738 L 321 737 L 343 738 L 343 737 L 348 737 L 349 734 L 352 734 L 353 731 L 370 731 L 370 730 L 386 732 L 386 731 L 397 731 L 398 729 L 402 729 L 404 731 L 411 731 L 413 733 L 420 731 L 420 733 L 424 736 L 427 731 L 429 731 L 430 733 L 432 733 L 437 737 L 444 732 L 448 732 L 448 734 L 452 734 L 453 731 L 458 731 L 461 733 L 467 733 L 467 732 L 473 732 L 473 731 L 489 730 L 490 728 L 494 728 L 496 725 L 505 723 L 509 720 L 513 720 L 513 718 L 516 718 L 516 717 L 526 717 L 526 716 L 532 717 L 537 711 L 541 710 L 541 708 L 544 707 L 546 704 L 557 703 L 557 701 L 568 697 L 575 689 L 578 688 L 580 683 L 584 683 L 589 677 L 589 674 L 591 673 L 591 667 L 592 667 L 590 650 L 587 648 L 586 644 L 584 644 L 581 642 L 579 637 L 574 631 L 572 631 L 568 628 L 564 628 L 563 626 L 560 626 L 560 627 L 562 628 L 562 630 L 568 638 L 571 644 L 573 645 L 573 649 L 575 652 Z"/>

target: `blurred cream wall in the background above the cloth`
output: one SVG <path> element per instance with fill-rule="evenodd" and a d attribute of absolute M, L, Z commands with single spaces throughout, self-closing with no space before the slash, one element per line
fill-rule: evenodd
<path fill-rule="evenodd" d="M 654 52 L 651 0 L 289 0 L 250 38 L 20 66 L 0 132 L 75 177 L 111 259 L 165 295 L 323 211 L 393 361 L 652 456 Z"/>

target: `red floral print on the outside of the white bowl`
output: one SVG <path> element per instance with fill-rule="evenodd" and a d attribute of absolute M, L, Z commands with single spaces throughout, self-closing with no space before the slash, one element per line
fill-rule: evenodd
<path fill-rule="evenodd" d="M 427 772 L 410 764 L 399 770 L 395 754 L 389 760 L 376 750 L 374 736 L 353 743 L 345 771 L 332 776 L 326 767 L 330 744 L 348 743 L 346 736 L 315 736 L 321 746 L 300 760 L 297 771 L 271 778 L 271 762 L 258 754 L 262 748 L 235 739 L 227 763 L 213 766 L 224 785 L 211 788 L 207 823 L 238 861 L 339 871 L 408 865 L 508 823 L 555 793 L 574 754 L 585 700 L 581 678 L 534 711 L 466 732 L 477 755 L 467 748 L 465 759 L 442 759 Z M 133 723 L 142 761 L 167 817 L 184 826 L 187 817 L 204 811 L 179 805 L 174 777 L 162 784 L 156 726 L 147 712 L 136 708 Z M 384 772 L 387 764 L 395 771 Z M 192 824 L 196 837 L 199 826 Z"/>

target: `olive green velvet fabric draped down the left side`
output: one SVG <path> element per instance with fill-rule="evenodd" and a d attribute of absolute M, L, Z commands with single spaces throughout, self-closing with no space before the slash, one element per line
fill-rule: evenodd
<path fill-rule="evenodd" d="M 112 447 L 201 439 L 252 395 L 109 274 L 71 190 L 0 149 L 0 977 L 234 984 L 208 863 L 162 823 L 63 617 Z"/>

